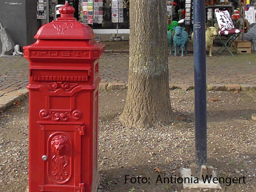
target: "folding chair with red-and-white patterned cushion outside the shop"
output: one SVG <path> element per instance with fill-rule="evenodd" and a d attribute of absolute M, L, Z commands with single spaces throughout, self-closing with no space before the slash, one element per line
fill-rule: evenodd
<path fill-rule="evenodd" d="M 227 49 L 231 53 L 231 55 L 233 55 L 233 51 L 238 51 L 241 54 L 238 48 L 233 44 L 233 41 L 236 40 L 238 35 L 242 33 L 243 30 L 234 28 L 234 24 L 228 11 L 215 10 L 215 18 L 219 25 L 218 37 L 223 44 L 216 53 L 224 48 L 222 52 Z M 226 39 L 223 37 L 226 37 Z M 229 49 L 231 45 L 234 48 L 233 50 Z"/>

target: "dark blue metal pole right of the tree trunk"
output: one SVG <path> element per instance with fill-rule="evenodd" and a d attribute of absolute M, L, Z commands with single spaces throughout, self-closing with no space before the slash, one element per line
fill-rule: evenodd
<path fill-rule="evenodd" d="M 205 1 L 195 0 L 193 8 L 195 140 L 197 175 L 199 175 L 201 166 L 207 163 Z"/>

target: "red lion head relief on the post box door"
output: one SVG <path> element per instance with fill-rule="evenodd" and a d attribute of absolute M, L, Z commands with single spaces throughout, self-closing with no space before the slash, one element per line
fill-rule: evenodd
<path fill-rule="evenodd" d="M 52 138 L 51 150 L 54 155 L 64 155 L 69 150 L 69 139 L 63 135 L 56 135 Z"/>

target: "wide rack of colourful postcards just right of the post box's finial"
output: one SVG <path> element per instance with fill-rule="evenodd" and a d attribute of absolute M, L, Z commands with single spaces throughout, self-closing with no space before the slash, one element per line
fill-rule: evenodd
<path fill-rule="evenodd" d="M 81 0 L 80 20 L 84 24 L 102 24 L 103 0 Z"/>

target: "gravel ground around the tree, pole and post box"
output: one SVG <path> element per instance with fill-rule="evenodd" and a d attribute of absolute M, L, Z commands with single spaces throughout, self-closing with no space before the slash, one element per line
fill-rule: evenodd
<path fill-rule="evenodd" d="M 184 190 L 160 177 L 179 177 L 195 160 L 194 91 L 170 91 L 177 117 L 169 126 L 133 129 L 118 120 L 126 90 L 102 91 L 99 102 L 99 192 L 103 191 L 256 191 L 256 92 L 207 92 L 208 165 L 220 177 L 245 177 L 246 184 L 221 184 L 223 190 Z M 0 191 L 25 191 L 28 185 L 28 100 L 0 114 Z M 155 172 L 154 168 L 159 168 Z M 126 178 L 129 178 L 125 181 Z M 141 176 L 147 183 L 132 183 Z M 134 180 L 132 180 L 134 181 Z M 145 181 L 145 179 L 144 179 Z M 150 182 L 150 183 L 148 183 Z"/>

